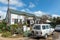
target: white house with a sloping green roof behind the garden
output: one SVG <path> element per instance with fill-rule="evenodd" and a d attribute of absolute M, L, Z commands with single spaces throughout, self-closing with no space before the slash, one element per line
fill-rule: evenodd
<path fill-rule="evenodd" d="M 24 23 L 33 24 L 34 23 L 34 14 L 21 12 L 13 9 L 9 9 L 8 14 L 6 15 L 6 20 L 10 24 Z"/>

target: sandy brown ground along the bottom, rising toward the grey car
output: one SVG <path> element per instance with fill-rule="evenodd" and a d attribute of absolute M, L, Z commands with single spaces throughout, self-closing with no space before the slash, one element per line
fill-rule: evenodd
<path fill-rule="evenodd" d="M 54 35 L 48 36 L 47 39 L 44 39 L 44 38 L 34 39 L 34 38 L 28 38 L 28 37 L 3 38 L 0 36 L 0 40 L 60 40 L 60 32 L 55 32 Z"/>

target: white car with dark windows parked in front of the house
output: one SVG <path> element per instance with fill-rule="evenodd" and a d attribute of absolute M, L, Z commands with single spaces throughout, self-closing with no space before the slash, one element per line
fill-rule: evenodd
<path fill-rule="evenodd" d="M 47 35 L 53 34 L 53 31 L 50 24 L 35 24 L 32 28 L 32 36 L 47 38 Z"/>

